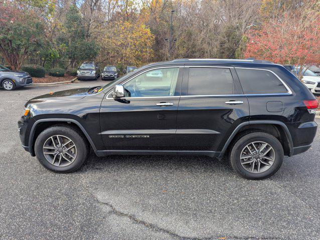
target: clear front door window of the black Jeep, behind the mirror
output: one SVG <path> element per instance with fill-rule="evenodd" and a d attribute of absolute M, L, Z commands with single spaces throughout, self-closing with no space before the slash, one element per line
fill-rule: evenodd
<path fill-rule="evenodd" d="M 123 84 L 127 96 L 174 96 L 179 67 L 152 69 Z"/>

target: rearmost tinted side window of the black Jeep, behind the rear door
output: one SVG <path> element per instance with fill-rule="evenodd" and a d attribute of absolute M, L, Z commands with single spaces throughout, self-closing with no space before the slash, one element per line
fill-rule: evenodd
<path fill-rule="evenodd" d="M 283 83 L 266 70 L 236 69 L 245 94 L 286 93 Z"/>

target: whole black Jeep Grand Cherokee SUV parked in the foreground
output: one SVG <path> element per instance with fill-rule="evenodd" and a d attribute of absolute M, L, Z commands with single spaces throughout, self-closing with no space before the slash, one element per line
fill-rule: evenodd
<path fill-rule="evenodd" d="M 35 97 L 18 122 L 23 147 L 56 172 L 90 148 L 110 154 L 226 156 L 246 178 L 275 173 L 310 148 L 317 100 L 285 67 L 258 60 L 177 59 L 114 81 Z"/>

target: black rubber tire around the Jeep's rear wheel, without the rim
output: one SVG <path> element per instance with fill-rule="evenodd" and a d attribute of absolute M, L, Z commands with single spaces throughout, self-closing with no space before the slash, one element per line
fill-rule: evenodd
<path fill-rule="evenodd" d="M 250 143 L 262 141 L 269 144 L 274 150 L 273 164 L 265 171 L 262 172 L 250 172 L 241 164 L 240 156 L 242 150 Z M 264 179 L 273 175 L 281 166 L 283 161 L 283 147 L 279 140 L 273 135 L 266 132 L 249 132 L 245 135 L 241 135 L 237 138 L 230 148 L 229 159 L 233 169 L 241 176 L 248 179 Z M 251 163 L 249 163 L 251 164 Z"/>

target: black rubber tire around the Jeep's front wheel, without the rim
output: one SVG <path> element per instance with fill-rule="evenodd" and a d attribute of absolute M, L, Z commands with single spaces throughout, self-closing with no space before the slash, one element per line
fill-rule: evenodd
<path fill-rule="evenodd" d="M 45 154 L 43 153 L 43 146 L 46 140 L 54 135 L 64 135 L 70 138 L 76 145 L 77 155 L 74 161 L 69 165 L 53 165 L 45 157 Z M 76 171 L 79 167 L 82 166 L 90 152 L 90 146 L 84 136 L 76 128 L 71 126 L 55 125 L 48 127 L 39 134 L 35 142 L 35 152 L 38 160 L 44 167 L 51 171 L 66 173 Z"/>

